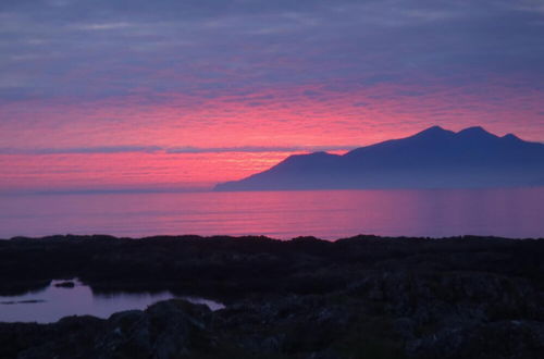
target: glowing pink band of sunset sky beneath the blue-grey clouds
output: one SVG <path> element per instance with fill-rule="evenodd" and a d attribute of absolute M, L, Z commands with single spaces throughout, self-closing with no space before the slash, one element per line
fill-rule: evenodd
<path fill-rule="evenodd" d="M 308 96 L 308 91 L 320 94 Z M 78 190 L 207 188 L 268 169 L 292 153 L 342 152 L 399 138 L 431 125 L 483 125 L 542 141 L 544 102 L 537 91 L 502 84 L 467 95 L 462 88 L 375 86 L 347 94 L 287 88 L 191 106 L 171 96 L 89 103 L 22 101 L 4 106 L 0 188 Z M 493 94 L 493 95 L 491 95 Z M 500 95 L 502 101 L 493 97 Z M 15 120 L 17 119 L 17 120 Z M 30 124 L 30 125 L 29 125 Z M 9 135 L 9 136 L 8 136 Z"/>

